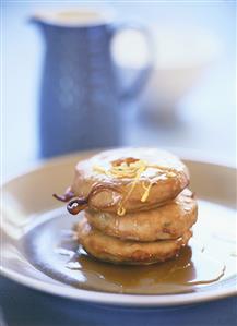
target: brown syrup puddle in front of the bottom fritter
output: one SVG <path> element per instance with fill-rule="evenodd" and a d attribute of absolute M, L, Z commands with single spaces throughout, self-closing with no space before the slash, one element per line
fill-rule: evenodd
<path fill-rule="evenodd" d="M 61 254 L 67 251 L 61 249 Z M 60 250 L 58 253 L 60 254 Z M 168 262 L 147 266 L 112 265 L 94 259 L 83 249 L 64 267 L 78 271 L 83 288 L 119 293 L 178 293 L 194 291 L 197 286 L 211 285 L 221 279 L 225 265 L 206 255 L 200 247 L 183 247 Z M 100 283 L 100 285 L 99 285 Z"/>

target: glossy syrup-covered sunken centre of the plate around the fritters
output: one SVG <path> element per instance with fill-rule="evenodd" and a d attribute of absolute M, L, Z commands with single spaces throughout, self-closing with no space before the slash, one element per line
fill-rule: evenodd
<path fill-rule="evenodd" d="M 32 265 L 69 286 L 112 293 L 185 293 L 220 287 L 236 274 L 236 219 L 229 208 L 200 201 L 189 246 L 170 261 L 146 266 L 112 265 L 87 255 L 72 231 L 79 218 L 61 208 L 39 216 L 22 243 Z"/>

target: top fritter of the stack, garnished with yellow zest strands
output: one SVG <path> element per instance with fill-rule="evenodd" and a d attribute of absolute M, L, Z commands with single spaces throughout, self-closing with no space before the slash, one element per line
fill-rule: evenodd
<path fill-rule="evenodd" d="M 125 215 L 146 210 L 175 198 L 189 184 L 187 167 L 174 155 L 155 148 L 102 152 L 76 165 L 64 196 L 72 214 L 90 207 Z"/>

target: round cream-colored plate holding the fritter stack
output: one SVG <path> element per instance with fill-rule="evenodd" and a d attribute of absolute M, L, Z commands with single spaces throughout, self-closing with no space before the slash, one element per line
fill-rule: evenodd
<path fill-rule="evenodd" d="M 185 290 L 159 289 L 157 294 L 152 279 L 154 269 L 150 269 L 153 276 L 145 279 L 144 285 L 144 280 L 139 282 L 140 271 L 135 276 L 137 267 L 132 267 L 131 286 L 125 291 L 122 288 L 119 291 L 119 282 L 111 277 L 115 268 L 118 268 L 118 275 L 131 273 L 123 267 L 96 263 L 82 255 L 87 271 L 79 270 L 78 263 L 71 261 L 71 254 L 76 245 L 72 241 L 72 226 L 80 217 L 69 216 L 64 205 L 55 201 L 51 194 L 64 191 L 73 178 L 76 161 L 90 155 L 81 153 L 46 161 L 3 184 L 1 271 L 4 276 L 55 295 L 112 305 L 170 306 L 236 294 L 236 169 L 189 156 L 182 157 L 182 160 L 190 170 L 191 189 L 199 198 L 189 279 L 194 279 L 193 275 L 200 277 L 200 270 L 206 273 L 209 269 L 211 273 L 205 255 L 215 261 L 216 268 L 224 266 L 223 274 L 212 282 L 193 282 Z M 195 261 L 195 255 L 200 256 L 203 252 L 204 258 Z M 199 262 L 201 269 L 197 265 Z M 98 264 L 100 267 L 104 264 L 102 274 L 95 275 L 94 266 Z"/>

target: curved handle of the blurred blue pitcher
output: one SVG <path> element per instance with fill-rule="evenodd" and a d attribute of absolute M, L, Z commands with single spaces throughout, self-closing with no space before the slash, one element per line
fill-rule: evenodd
<path fill-rule="evenodd" d="M 145 67 L 142 68 L 141 71 L 137 74 L 137 76 L 133 79 L 133 82 L 131 82 L 130 85 L 128 85 L 125 89 L 120 90 L 119 97 L 122 100 L 131 99 L 135 97 L 140 93 L 140 90 L 142 90 L 154 67 L 154 47 L 153 47 L 152 36 L 147 31 L 147 28 L 137 23 L 132 23 L 132 24 L 123 23 L 123 24 L 112 26 L 111 36 L 115 37 L 116 34 L 122 31 L 130 31 L 130 29 L 138 31 L 143 35 L 146 43 L 146 47 L 149 49 L 149 61 L 145 64 Z"/>

